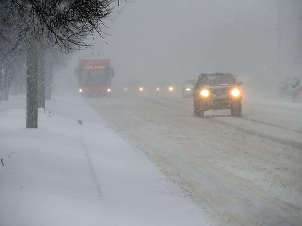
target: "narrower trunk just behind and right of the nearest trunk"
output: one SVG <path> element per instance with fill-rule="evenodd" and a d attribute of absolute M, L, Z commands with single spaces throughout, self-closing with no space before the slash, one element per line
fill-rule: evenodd
<path fill-rule="evenodd" d="M 44 49 L 40 49 L 38 54 L 38 108 L 45 109 Z"/>

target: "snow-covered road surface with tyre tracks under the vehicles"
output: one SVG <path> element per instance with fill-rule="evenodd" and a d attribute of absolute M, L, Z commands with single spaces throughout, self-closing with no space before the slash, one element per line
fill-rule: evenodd
<path fill-rule="evenodd" d="M 192 99 L 87 99 L 220 225 L 302 225 L 302 104 L 243 101 L 242 118 Z"/>

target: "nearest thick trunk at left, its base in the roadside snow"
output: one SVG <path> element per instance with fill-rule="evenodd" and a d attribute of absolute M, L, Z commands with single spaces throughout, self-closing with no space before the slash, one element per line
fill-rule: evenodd
<path fill-rule="evenodd" d="M 37 44 L 27 50 L 26 70 L 26 128 L 38 128 L 38 56 Z"/>

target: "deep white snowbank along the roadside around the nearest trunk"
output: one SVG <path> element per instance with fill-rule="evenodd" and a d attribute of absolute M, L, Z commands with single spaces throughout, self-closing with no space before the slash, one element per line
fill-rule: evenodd
<path fill-rule="evenodd" d="M 11 99 L 0 105 L 0 225 L 209 225 L 89 106 L 54 99 L 39 129 L 24 129 L 25 99 Z"/>

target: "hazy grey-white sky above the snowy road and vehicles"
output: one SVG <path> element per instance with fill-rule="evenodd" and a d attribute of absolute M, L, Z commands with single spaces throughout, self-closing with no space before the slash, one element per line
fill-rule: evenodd
<path fill-rule="evenodd" d="M 280 2 L 281 74 L 301 75 L 302 1 Z M 94 52 L 111 58 L 118 81 L 278 74 L 277 31 L 266 31 L 278 28 L 278 0 L 134 0 L 110 27 L 108 45 L 98 40 Z"/>

